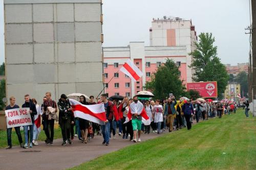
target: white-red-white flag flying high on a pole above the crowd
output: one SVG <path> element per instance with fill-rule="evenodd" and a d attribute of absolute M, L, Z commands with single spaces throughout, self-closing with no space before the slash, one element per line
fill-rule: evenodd
<path fill-rule="evenodd" d="M 139 80 L 143 75 L 141 70 L 130 59 L 123 64 L 120 71 L 129 76 L 134 82 Z"/>

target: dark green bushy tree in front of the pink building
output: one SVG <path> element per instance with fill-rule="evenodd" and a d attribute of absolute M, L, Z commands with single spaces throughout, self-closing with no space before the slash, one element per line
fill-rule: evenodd
<path fill-rule="evenodd" d="M 155 99 L 165 99 L 169 93 L 179 98 L 186 93 L 182 83 L 179 67 L 173 60 L 167 59 L 164 65 L 157 68 L 151 77 L 151 82 L 146 82 L 144 88 L 152 91 Z"/>

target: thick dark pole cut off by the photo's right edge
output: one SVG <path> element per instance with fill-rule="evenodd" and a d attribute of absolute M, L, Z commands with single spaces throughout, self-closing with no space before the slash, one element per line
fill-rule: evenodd
<path fill-rule="evenodd" d="M 253 115 L 256 116 L 256 1 L 251 0 L 252 15 L 252 102 Z"/>

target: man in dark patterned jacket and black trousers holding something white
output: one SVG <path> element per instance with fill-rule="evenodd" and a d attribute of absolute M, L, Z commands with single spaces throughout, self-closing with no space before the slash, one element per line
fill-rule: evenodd
<path fill-rule="evenodd" d="M 46 92 L 46 101 L 44 101 L 44 104 L 42 106 L 43 111 L 43 117 L 46 117 L 46 136 L 47 141 L 46 144 L 53 145 L 53 137 L 54 137 L 54 122 L 58 120 L 58 117 L 56 115 L 57 113 L 57 104 L 55 101 L 52 100 L 52 93 Z M 49 116 L 50 114 L 50 116 Z M 53 116 L 51 116 L 53 115 Z M 49 131 L 50 127 L 50 131 Z M 50 134 L 51 133 L 51 134 Z"/>

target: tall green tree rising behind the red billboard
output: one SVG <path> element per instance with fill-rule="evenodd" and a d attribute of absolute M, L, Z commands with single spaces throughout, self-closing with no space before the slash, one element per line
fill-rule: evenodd
<path fill-rule="evenodd" d="M 199 42 L 195 42 L 196 50 L 189 53 L 193 56 L 190 67 L 195 70 L 193 80 L 200 81 L 217 81 L 218 95 L 222 97 L 228 84 L 229 75 L 226 67 L 217 57 L 217 46 L 214 46 L 215 38 L 210 33 L 201 33 Z"/>

